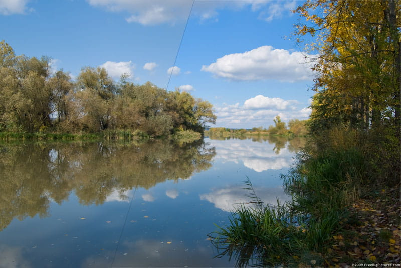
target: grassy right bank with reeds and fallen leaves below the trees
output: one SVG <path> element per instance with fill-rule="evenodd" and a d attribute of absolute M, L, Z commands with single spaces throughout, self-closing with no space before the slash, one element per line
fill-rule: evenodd
<path fill-rule="evenodd" d="M 396 158 L 388 158 L 391 150 L 385 147 L 385 137 L 376 143 L 373 157 L 366 142 L 371 138 L 346 129 L 332 129 L 316 137 L 298 155 L 291 171 L 282 176 L 292 200 L 275 205 L 256 202 L 251 209 L 240 207 L 228 226 L 211 234 L 219 256 L 235 258 L 238 266 L 397 263 L 401 231 L 399 214 L 398 218 L 395 215 L 399 211 L 385 204 L 399 206 L 399 181 L 390 177 L 389 172 L 395 170 L 374 169 L 379 162 L 382 167 L 391 166 Z M 392 149 L 396 157 L 399 147 Z M 386 179 L 379 178 L 380 172 Z M 382 210 L 374 208 L 387 200 L 377 193 L 389 191 L 398 194 L 387 198 Z M 355 209 L 361 203 L 373 204 L 368 210 L 374 211 L 369 217 L 372 223 L 361 222 L 366 218 L 361 213 L 366 210 Z M 376 233 L 366 233 L 366 226 Z"/>

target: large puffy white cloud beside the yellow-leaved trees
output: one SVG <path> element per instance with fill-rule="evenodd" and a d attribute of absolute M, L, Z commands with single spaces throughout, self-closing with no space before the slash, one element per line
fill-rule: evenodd
<path fill-rule="evenodd" d="M 229 80 L 267 80 L 286 82 L 312 80 L 311 63 L 301 52 L 262 46 L 244 53 L 228 54 L 202 66 L 202 71 Z"/>

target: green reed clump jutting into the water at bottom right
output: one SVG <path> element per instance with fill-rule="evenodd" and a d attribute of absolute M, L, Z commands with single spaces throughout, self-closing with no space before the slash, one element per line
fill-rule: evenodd
<path fill-rule="evenodd" d="M 210 238 L 219 251 L 217 257 L 234 257 L 239 267 L 288 263 L 302 250 L 305 234 L 293 223 L 287 204 L 262 208 L 241 205 L 229 220 L 227 227 L 218 227 Z"/>

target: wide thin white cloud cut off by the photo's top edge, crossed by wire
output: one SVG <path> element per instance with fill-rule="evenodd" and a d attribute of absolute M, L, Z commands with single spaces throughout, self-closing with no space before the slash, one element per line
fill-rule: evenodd
<path fill-rule="evenodd" d="M 192 6 L 192 1 L 188 0 L 87 0 L 87 2 L 111 12 L 128 12 L 130 15 L 126 18 L 127 22 L 147 26 L 183 22 L 188 18 Z M 295 7 L 294 3 L 295 0 L 196 1 L 192 15 L 200 21 L 218 21 L 218 11 L 221 9 L 240 10 L 251 7 L 253 12 L 258 13 L 259 19 L 271 21 L 285 13 L 290 14 L 290 10 Z"/>

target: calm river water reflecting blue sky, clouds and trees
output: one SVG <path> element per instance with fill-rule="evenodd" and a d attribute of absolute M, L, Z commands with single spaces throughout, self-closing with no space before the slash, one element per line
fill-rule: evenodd
<path fill-rule="evenodd" d="M 246 177 L 285 200 L 300 143 L 0 145 L 0 267 L 233 266 L 207 234 L 249 200 Z"/>

